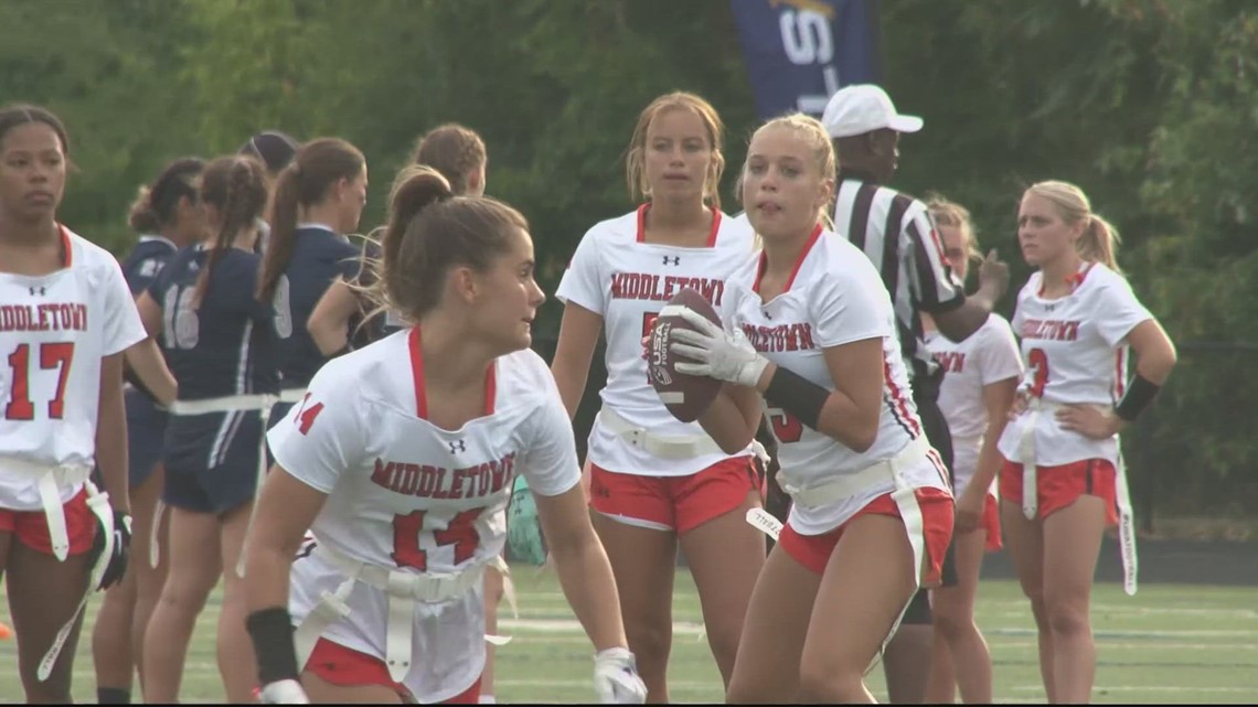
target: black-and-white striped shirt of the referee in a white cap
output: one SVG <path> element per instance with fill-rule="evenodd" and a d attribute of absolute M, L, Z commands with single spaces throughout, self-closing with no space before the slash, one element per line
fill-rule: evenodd
<path fill-rule="evenodd" d="M 913 381 L 933 375 L 938 364 L 926 347 L 918 313 L 960 307 L 965 289 L 944 259 L 944 245 L 926 204 L 844 171 L 839 175 L 834 230 L 864 250 L 882 274 Z"/>

